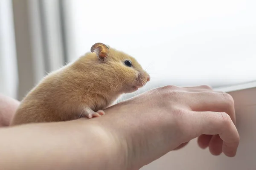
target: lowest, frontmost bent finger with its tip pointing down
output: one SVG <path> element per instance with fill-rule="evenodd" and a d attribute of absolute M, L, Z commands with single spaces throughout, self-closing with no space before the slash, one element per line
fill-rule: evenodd
<path fill-rule="evenodd" d="M 223 141 L 222 150 L 224 154 L 230 157 L 236 155 L 240 137 L 236 126 L 227 113 L 192 112 L 192 114 L 189 114 L 188 119 L 184 119 L 184 121 L 190 123 L 190 126 L 186 129 L 188 134 L 195 135 L 191 136 L 192 139 L 202 134 L 219 135 Z M 188 125 L 187 122 L 186 125 Z"/>

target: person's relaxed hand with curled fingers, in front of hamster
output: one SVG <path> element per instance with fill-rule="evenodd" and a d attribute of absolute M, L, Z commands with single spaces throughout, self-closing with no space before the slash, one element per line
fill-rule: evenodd
<path fill-rule="evenodd" d="M 233 157 L 239 145 L 233 98 L 208 86 L 153 89 L 105 112 L 92 121 L 125 144 L 128 169 L 139 169 L 198 136 L 199 146 L 213 155 Z"/>

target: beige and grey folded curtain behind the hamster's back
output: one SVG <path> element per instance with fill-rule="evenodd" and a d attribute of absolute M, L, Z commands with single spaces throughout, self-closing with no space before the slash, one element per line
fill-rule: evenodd
<path fill-rule="evenodd" d="M 1 91 L 13 91 L 17 88 L 17 99 L 21 100 L 47 73 L 60 68 L 67 62 L 65 37 L 64 1 L 63 0 L 4 0 L 13 14 L 12 29 L 15 32 L 15 51 L 13 57 L 17 65 L 12 68 L 17 73 L 17 87 L 10 87 L 10 82 L 2 77 L 9 71 L 1 72 Z M 8 2 L 7 2 L 8 1 Z M 2 12 L 3 13 L 3 12 Z M 3 24 L 0 24 L 0 28 Z M 6 37 L 6 39 L 10 39 Z M 2 55 L 6 59 L 9 55 Z M 2 60 L 0 60 L 2 61 Z M 1 69 L 3 63 L 1 64 Z M 11 89 L 12 88 L 12 89 Z M 13 96 L 13 95 L 12 95 Z"/>

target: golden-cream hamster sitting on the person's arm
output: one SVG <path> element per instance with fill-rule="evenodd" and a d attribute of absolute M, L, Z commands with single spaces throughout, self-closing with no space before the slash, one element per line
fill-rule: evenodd
<path fill-rule="evenodd" d="M 149 80 L 134 57 L 95 43 L 90 52 L 44 77 L 23 98 L 11 125 L 100 117 L 120 95 Z"/>

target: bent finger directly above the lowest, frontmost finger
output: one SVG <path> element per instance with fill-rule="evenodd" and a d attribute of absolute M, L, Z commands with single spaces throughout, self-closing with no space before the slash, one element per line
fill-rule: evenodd
<path fill-rule="evenodd" d="M 229 94 L 205 91 L 188 93 L 187 95 L 186 102 L 192 111 L 225 112 L 236 125 L 234 100 Z"/>

